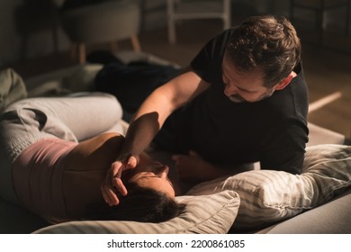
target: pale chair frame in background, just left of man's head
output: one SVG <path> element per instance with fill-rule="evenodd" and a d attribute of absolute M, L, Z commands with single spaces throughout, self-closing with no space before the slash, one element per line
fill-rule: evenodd
<path fill-rule="evenodd" d="M 189 19 L 221 19 L 223 29 L 231 25 L 230 0 L 167 0 L 168 40 L 175 43 L 175 23 Z"/>

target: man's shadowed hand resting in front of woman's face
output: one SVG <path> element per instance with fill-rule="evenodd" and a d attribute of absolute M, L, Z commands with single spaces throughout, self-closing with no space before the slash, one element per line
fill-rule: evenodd
<path fill-rule="evenodd" d="M 194 151 L 189 151 L 189 155 L 173 155 L 172 159 L 181 180 L 202 182 L 214 178 L 215 167 Z"/>

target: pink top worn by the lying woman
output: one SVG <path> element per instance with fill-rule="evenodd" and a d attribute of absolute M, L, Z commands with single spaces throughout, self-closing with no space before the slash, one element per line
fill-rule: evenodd
<path fill-rule="evenodd" d="M 13 165 L 14 190 L 23 206 L 50 220 L 66 218 L 62 189 L 65 157 L 77 143 L 41 139 L 17 157 Z"/>

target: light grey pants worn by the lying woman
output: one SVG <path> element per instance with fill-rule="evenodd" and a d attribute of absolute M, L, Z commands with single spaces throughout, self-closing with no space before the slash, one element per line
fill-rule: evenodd
<path fill-rule="evenodd" d="M 16 157 L 43 138 L 78 142 L 105 131 L 122 133 L 121 104 L 110 94 L 38 97 L 9 105 L 0 115 L 0 196 L 18 203 L 11 169 Z"/>

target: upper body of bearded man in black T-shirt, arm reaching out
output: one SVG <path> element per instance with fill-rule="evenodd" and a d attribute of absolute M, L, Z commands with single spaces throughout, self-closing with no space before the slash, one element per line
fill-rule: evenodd
<path fill-rule="evenodd" d="M 301 173 L 308 141 L 301 64 L 300 40 L 284 17 L 251 17 L 210 40 L 184 74 L 157 88 L 134 115 L 102 185 L 106 202 L 119 202 L 115 190 L 127 193 L 121 172 L 136 166 L 161 127 L 154 142 L 166 139 L 180 153 L 175 167 L 187 181 L 242 172 L 253 162 Z"/>

